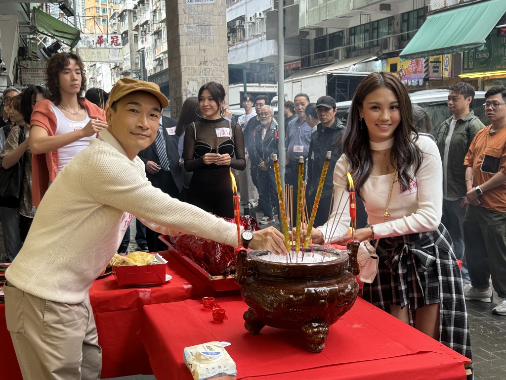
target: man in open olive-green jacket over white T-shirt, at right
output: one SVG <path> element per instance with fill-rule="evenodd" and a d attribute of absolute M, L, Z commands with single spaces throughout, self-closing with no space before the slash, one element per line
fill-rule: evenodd
<path fill-rule="evenodd" d="M 445 120 L 435 131 L 441 162 L 443 163 L 443 215 L 441 222 L 448 230 L 455 256 L 464 261 L 462 280 L 471 282 L 464 257 L 463 221 L 466 206 L 463 199 L 467 189 L 465 183 L 466 167 L 462 164 L 469 145 L 485 126 L 470 110 L 475 89 L 467 82 L 458 82 L 450 87 L 448 109 L 452 117 Z M 467 177 L 466 177 L 467 178 Z"/>

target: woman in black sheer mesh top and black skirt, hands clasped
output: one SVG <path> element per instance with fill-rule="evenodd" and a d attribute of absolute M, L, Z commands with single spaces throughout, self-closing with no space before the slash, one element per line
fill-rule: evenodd
<path fill-rule="evenodd" d="M 223 118 L 225 89 L 216 82 L 198 91 L 203 119 L 186 128 L 184 165 L 193 172 L 186 202 L 218 216 L 234 217 L 230 168 L 244 170 L 241 126 Z"/>

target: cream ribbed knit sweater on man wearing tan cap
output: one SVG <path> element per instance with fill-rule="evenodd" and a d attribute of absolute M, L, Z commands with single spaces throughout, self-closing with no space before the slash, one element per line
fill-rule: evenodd
<path fill-rule="evenodd" d="M 58 174 L 6 272 L 18 289 L 63 303 L 85 300 L 123 239 L 129 213 L 161 234 L 237 245 L 235 224 L 164 194 L 104 129 Z"/>

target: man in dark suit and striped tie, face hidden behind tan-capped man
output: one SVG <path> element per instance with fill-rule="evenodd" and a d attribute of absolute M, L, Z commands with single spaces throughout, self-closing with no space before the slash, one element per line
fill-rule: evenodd
<path fill-rule="evenodd" d="M 155 141 L 139 152 L 139 158 L 146 165 L 146 176 L 154 187 L 173 198 L 180 197 L 183 187 L 183 175 L 179 167 L 176 119 L 162 116 Z M 150 252 L 166 250 L 158 234 L 146 227 L 146 240 Z"/>

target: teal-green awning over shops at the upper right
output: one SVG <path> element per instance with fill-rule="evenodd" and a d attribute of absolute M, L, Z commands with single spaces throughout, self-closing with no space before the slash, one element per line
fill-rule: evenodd
<path fill-rule="evenodd" d="M 504 12 L 506 0 L 484 0 L 432 14 L 399 56 L 414 59 L 479 48 Z"/>

